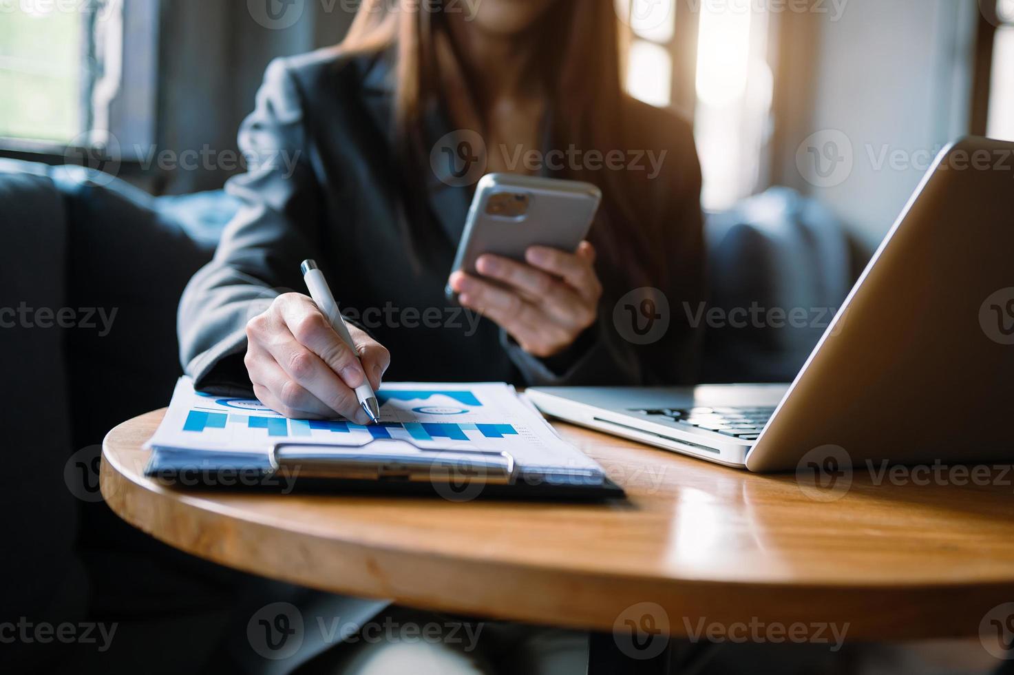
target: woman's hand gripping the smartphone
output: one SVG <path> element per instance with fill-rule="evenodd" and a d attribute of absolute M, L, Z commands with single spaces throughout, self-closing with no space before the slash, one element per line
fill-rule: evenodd
<path fill-rule="evenodd" d="M 527 265 L 485 255 L 476 267 L 502 285 L 455 272 L 458 301 L 499 324 L 521 348 L 539 358 L 564 351 L 598 316 L 602 284 L 595 274 L 595 250 L 582 242 L 574 254 L 532 247 Z"/>

